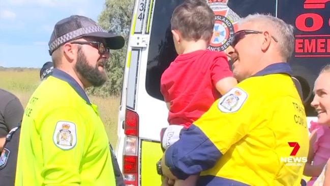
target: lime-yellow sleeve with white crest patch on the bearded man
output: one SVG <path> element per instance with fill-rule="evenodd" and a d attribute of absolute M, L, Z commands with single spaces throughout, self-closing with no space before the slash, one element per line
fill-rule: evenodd
<path fill-rule="evenodd" d="M 45 185 L 80 185 L 80 162 L 86 140 L 86 122 L 72 108 L 59 108 L 40 125 L 43 149 L 41 176 Z"/>

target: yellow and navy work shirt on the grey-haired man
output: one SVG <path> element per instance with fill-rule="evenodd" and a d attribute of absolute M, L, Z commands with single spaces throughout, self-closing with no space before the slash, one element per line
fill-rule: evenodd
<path fill-rule="evenodd" d="M 199 186 L 300 185 L 309 137 L 291 73 L 287 63 L 269 65 L 217 100 L 165 152 L 172 174 L 200 173 Z"/>

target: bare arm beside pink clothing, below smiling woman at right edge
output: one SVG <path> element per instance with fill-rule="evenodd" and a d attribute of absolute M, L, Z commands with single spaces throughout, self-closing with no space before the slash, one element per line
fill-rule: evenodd
<path fill-rule="evenodd" d="M 314 143 L 316 141 L 317 138 L 317 134 L 316 134 L 316 130 L 313 130 L 311 132 L 311 137 L 309 140 L 309 151 L 308 151 L 308 157 L 307 157 L 307 162 L 305 164 L 305 168 L 304 168 L 304 175 L 305 176 L 319 176 L 324 168 L 324 164 L 319 164 L 319 165 L 311 165 L 314 156 L 315 156 L 315 152 L 314 152 Z"/>

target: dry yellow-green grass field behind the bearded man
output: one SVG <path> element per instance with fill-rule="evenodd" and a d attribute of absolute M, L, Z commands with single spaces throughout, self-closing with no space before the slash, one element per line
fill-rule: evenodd
<path fill-rule="evenodd" d="M 24 108 L 39 83 L 38 69 L 0 70 L 0 88 L 15 94 L 22 102 Z M 98 105 L 109 141 L 115 147 L 117 142 L 117 115 L 120 97 L 100 98 L 89 96 L 89 99 Z"/>

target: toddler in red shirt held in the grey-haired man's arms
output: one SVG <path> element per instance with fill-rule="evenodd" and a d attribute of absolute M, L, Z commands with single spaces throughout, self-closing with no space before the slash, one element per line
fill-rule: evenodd
<path fill-rule="evenodd" d="M 175 143 L 183 129 L 237 85 L 224 52 L 207 49 L 215 14 L 204 0 L 187 0 L 171 18 L 176 59 L 161 77 L 161 93 L 169 109 L 169 127 L 162 129 L 163 151 Z M 192 186 L 198 175 L 175 180 L 175 186 Z"/>

